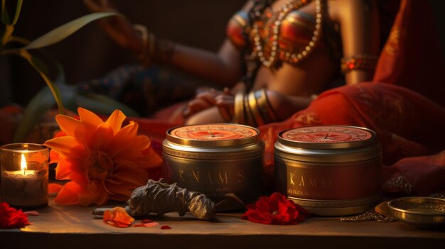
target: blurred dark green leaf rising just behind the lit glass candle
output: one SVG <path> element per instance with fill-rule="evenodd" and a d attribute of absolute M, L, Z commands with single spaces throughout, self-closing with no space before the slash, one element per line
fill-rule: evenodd
<path fill-rule="evenodd" d="M 48 87 L 43 87 L 26 106 L 23 118 L 18 123 L 14 142 L 23 142 L 31 129 L 41 121 L 48 111 L 55 104 L 55 99 Z"/>

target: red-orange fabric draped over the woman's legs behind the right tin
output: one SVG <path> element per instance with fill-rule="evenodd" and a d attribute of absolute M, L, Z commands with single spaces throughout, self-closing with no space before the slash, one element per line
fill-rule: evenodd
<path fill-rule="evenodd" d="M 266 144 L 266 185 L 272 185 L 280 131 L 309 125 L 352 125 L 377 133 L 386 192 L 428 195 L 445 190 L 445 66 L 429 1 L 402 0 L 372 82 L 331 89 L 281 123 L 259 127 Z M 168 124 L 138 121 L 164 137 Z M 397 184 L 394 184 L 397 183 Z"/>

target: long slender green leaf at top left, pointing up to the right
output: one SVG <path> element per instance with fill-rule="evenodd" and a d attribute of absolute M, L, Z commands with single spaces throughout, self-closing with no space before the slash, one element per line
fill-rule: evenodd
<path fill-rule="evenodd" d="M 60 40 L 63 40 L 67 38 L 68 36 L 72 35 L 76 31 L 78 31 L 83 26 L 87 25 L 88 23 L 95 21 L 100 18 L 104 18 L 107 16 L 117 16 L 120 15 L 119 13 L 114 12 L 98 12 L 98 13 L 90 13 L 86 16 L 82 16 L 80 18 L 77 18 L 73 21 L 70 21 L 69 23 L 65 23 L 63 26 L 59 26 L 58 28 L 53 29 L 52 31 L 45 33 L 45 35 L 42 35 L 41 37 L 37 38 L 36 40 L 33 40 L 31 43 L 26 45 L 24 50 L 30 50 L 30 49 L 36 49 L 36 48 L 43 48 L 49 45 L 53 45 L 54 43 L 60 42 Z"/>

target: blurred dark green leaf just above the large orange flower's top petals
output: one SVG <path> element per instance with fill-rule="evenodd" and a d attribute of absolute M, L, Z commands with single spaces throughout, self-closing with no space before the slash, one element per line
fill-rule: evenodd
<path fill-rule="evenodd" d="M 79 94 L 77 95 L 77 106 L 106 115 L 112 114 L 114 110 L 119 109 L 127 116 L 139 116 L 139 114 L 129 106 L 101 94 Z"/>

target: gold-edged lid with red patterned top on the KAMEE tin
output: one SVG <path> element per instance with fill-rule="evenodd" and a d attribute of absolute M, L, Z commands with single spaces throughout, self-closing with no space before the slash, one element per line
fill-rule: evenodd
<path fill-rule="evenodd" d="M 374 131 L 357 126 L 307 126 L 282 131 L 275 154 L 308 162 L 352 162 L 380 155 Z"/>

